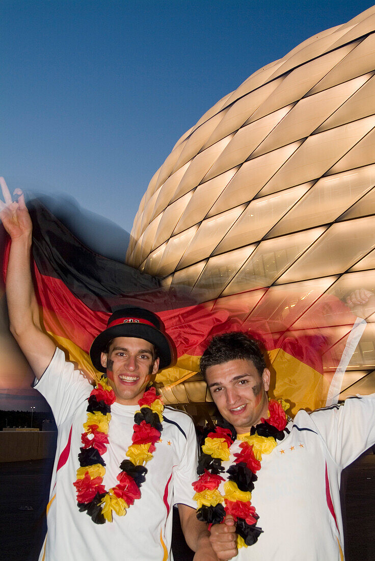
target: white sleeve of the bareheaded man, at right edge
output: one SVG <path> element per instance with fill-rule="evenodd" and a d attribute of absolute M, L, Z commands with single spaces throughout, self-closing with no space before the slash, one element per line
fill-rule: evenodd
<path fill-rule="evenodd" d="M 350 397 L 309 415 L 337 465 L 348 466 L 375 443 L 375 394 Z"/>

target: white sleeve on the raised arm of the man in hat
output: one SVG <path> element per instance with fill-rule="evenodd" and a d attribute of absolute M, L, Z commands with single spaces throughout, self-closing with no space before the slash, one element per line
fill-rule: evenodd
<path fill-rule="evenodd" d="M 47 369 L 34 388 L 47 400 L 57 426 L 69 419 L 77 406 L 89 397 L 91 384 L 65 360 L 63 351 L 56 348 Z"/>

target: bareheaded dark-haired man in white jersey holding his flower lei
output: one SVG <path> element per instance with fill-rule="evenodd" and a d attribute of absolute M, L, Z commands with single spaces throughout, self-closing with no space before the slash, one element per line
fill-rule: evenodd
<path fill-rule="evenodd" d="M 244 333 L 214 337 L 201 372 L 223 419 L 193 486 L 218 557 L 344 559 L 340 474 L 375 442 L 375 395 L 292 421 L 283 400 L 268 400 L 270 371 Z"/>

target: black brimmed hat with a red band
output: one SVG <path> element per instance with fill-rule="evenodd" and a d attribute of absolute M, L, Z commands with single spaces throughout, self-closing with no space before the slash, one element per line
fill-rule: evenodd
<path fill-rule="evenodd" d="M 172 350 L 165 333 L 164 325 L 158 316 L 143 308 L 127 307 L 115 311 L 110 316 L 107 329 L 94 339 L 90 348 L 90 358 L 96 370 L 105 373 L 101 365 L 101 353 L 111 339 L 115 337 L 137 337 L 152 343 L 159 356 L 159 368 L 165 368 L 172 362 Z"/>

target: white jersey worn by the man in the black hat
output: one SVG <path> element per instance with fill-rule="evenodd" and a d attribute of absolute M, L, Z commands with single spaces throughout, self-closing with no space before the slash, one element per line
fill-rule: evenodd
<path fill-rule="evenodd" d="M 146 465 L 148 471 L 141 486 L 141 498 L 128 508 L 125 516 L 114 513 L 112 523 L 98 525 L 86 512 L 78 511 L 73 486 L 80 467 L 78 453 L 92 386 L 57 349 L 35 388 L 47 399 L 58 426 L 48 530 L 40 560 L 172 560 L 172 506 L 183 503 L 196 508 L 191 484 L 197 479 L 197 446 L 191 419 L 182 412 L 165 408 L 163 431 L 153 458 Z M 106 464 L 103 484 L 107 490 L 118 483 L 119 465 L 127 459 L 134 415 L 139 409 L 138 405 L 113 403 L 111 406 L 109 444 L 103 454 Z"/>

